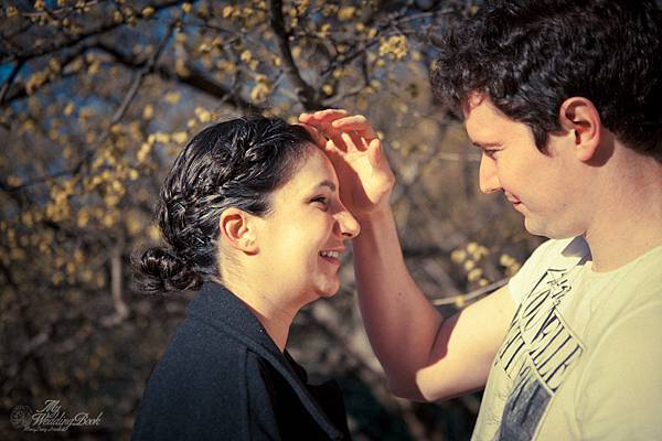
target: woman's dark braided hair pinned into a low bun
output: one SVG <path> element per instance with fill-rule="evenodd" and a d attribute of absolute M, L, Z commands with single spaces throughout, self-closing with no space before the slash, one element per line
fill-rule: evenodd
<path fill-rule="evenodd" d="M 312 142 L 299 126 L 276 118 L 238 118 L 202 130 L 180 152 L 161 187 L 157 219 L 166 246 L 134 261 L 149 293 L 196 290 L 220 279 L 221 214 L 236 207 L 259 216 Z"/>

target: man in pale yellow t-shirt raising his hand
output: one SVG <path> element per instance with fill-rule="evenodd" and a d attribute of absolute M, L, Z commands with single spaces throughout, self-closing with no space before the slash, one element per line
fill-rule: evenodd
<path fill-rule="evenodd" d="M 361 222 L 360 306 L 394 394 L 487 385 L 476 440 L 662 439 L 662 17 L 647 1 L 495 2 L 431 82 L 482 150 L 480 187 L 551 238 L 444 318 L 403 260 L 393 174 L 365 118 L 302 115 Z"/>

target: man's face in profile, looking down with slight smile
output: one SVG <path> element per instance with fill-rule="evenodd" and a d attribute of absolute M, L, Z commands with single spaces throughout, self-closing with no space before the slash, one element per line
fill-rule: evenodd
<path fill-rule="evenodd" d="M 547 154 L 542 153 L 528 126 L 508 118 L 481 95 L 469 99 L 465 123 L 482 150 L 483 193 L 502 191 L 532 234 L 563 238 L 584 233 L 586 204 L 573 133 L 549 135 Z"/>

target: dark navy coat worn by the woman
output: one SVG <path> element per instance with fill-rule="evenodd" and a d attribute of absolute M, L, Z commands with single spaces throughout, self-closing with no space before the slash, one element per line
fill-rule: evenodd
<path fill-rule="evenodd" d="M 145 389 L 132 440 L 348 440 L 335 381 L 307 384 L 247 306 L 206 282 Z"/>

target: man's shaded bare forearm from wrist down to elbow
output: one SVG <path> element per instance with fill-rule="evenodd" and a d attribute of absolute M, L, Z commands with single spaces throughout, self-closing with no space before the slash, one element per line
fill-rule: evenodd
<path fill-rule="evenodd" d="M 389 208 L 361 223 L 353 241 L 365 329 L 396 395 L 417 396 L 415 376 L 429 362 L 442 322 L 407 270 Z"/>

